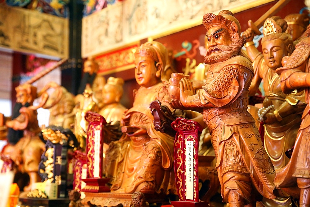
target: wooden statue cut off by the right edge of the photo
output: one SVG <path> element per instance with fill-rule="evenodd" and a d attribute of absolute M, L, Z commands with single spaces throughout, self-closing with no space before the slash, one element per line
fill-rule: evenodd
<path fill-rule="evenodd" d="M 293 197 L 299 197 L 299 206 L 310 204 L 310 26 L 289 58 L 283 58 L 283 68 L 278 68 L 281 74 L 281 88 L 284 93 L 298 89 L 306 90 L 307 106 L 302 115 L 301 126 L 298 131 L 294 150 L 288 164 L 279 170 L 275 184 L 283 187 Z M 296 185 L 298 188 L 296 189 Z"/>

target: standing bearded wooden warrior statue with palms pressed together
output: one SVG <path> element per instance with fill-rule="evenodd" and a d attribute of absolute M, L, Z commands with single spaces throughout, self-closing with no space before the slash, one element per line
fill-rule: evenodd
<path fill-rule="evenodd" d="M 211 134 L 217 158 L 221 194 L 229 206 L 245 206 L 273 194 L 275 170 L 264 149 L 254 118 L 247 112 L 247 98 L 254 74 L 251 61 L 241 51 L 246 37 L 231 11 L 203 16 L 207 52 L 204 63 L 210 64 L 203 89 L 196 91 L 187 78 L 171 102 L 174 108 L 203 109 L 204 121 Z M 276 191 L 277 192 L 277 191 Z"/>

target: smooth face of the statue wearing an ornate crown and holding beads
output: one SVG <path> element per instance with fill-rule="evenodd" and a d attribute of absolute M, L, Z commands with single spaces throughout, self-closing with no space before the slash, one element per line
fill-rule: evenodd
<path fill-rule="evenodd" d="M 273 70 L 282 67 L 281 60 L 288 55 L 286 45 L 280 39 L 263 42 L 262 51 L 267 66 Z"/>

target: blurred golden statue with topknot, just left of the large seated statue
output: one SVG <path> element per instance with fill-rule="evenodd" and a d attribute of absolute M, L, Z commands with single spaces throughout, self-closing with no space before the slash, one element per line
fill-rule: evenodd
<path fill-rule="evenodd" d="M 117 121 L 121 122 L 126 110 L 119 103 L 123 95 L 123 85 L 124 80 L 122 78 L 109 77 L 102 90 L 104 107 L 99 111 L 99 114 L 105 118 L 107 123 L 111 123 L 111 125 Z"/>

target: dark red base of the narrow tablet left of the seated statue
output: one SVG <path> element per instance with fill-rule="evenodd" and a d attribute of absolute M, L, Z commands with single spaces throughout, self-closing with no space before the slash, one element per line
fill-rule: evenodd
<path fill-rule="evenodd" d="M 110 188 L 105 186 L 108 183 L 110 178 L 86 178 L 82 179 L 86 183 L 86 186 L 82 188 L 82 192 L 110 192 Z"/>

